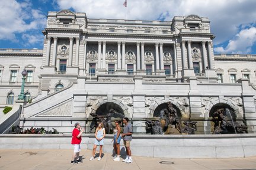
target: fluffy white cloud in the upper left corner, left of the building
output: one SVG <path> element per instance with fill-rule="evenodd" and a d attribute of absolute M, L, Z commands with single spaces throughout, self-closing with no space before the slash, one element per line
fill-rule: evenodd
<path fill-rule="evenodd" d="M 2 1 L 0 0 L 0 40 L 17 42 L 15 34 L 37 30 L 46 25 L 46 17 L 41 11 L 31 9 L 30 1 Z"/>

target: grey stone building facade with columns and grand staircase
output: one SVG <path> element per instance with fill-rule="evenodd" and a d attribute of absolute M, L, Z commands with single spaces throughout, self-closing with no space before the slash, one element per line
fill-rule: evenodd
<path fill-rule="evenodd" d="M 145 133 L 145 119 L 172 102 L 197 133 L 211 133 L 211 113 L 229 107 L 256 130 L 256 55 L 213 54 L 209 18 L 172 21 L 89 19 L 49 12 L 43 50 L 0 49 L 0 104 L 15 104 L 27 70 L 24 128 L 89 129 L 91 112 L 113 108 Z"/>

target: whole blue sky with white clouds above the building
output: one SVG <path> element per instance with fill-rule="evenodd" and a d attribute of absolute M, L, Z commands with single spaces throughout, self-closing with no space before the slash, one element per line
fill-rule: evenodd
<path fill-rule="evenodd" d="M 0 0 L 0 48 L 43 49 L 48 11 L 126 19 L 124 0 Z M 127 18 L 172 21 L 190 14 L 210 19 L 215 54 L 256 54 L 255 0 L 127 0 Z"/>

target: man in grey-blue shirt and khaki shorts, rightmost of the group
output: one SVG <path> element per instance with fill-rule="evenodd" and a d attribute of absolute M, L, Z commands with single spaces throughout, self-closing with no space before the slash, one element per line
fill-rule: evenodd
<path fill-rule="evenodd" d="M 129 119 L 127 117 L 123 118 L 124 128 L 123 128 L 123 134 L 121 135 L 123 137 L 124 146 L 126 148 L 126 159 L 123 160 L 123 162 L 126 162 L 127 164 L 132 163 L 132 152 L 130 150 L 130 141 L 132 140 L 132 125 L 129 123 Z"/>

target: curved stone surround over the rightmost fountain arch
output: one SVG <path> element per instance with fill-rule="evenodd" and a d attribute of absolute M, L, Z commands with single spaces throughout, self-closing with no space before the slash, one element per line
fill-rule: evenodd
<path fill-rule="evenodd" d="M 215 100 L 210 100 L 210 102 L 205 107 L 204 117 L 210 117 L 210 111 L 212 110 L 212 107 L 220 103 L 228 105 L 229 107 L 231 107 L 231 109 L 234 111 L 236 115 L 239 115 L 239 107 L 234 101 L 229 99 L 225 99 L 222 101 L 220 101 L 220 99 L 215 99 Z"/>

